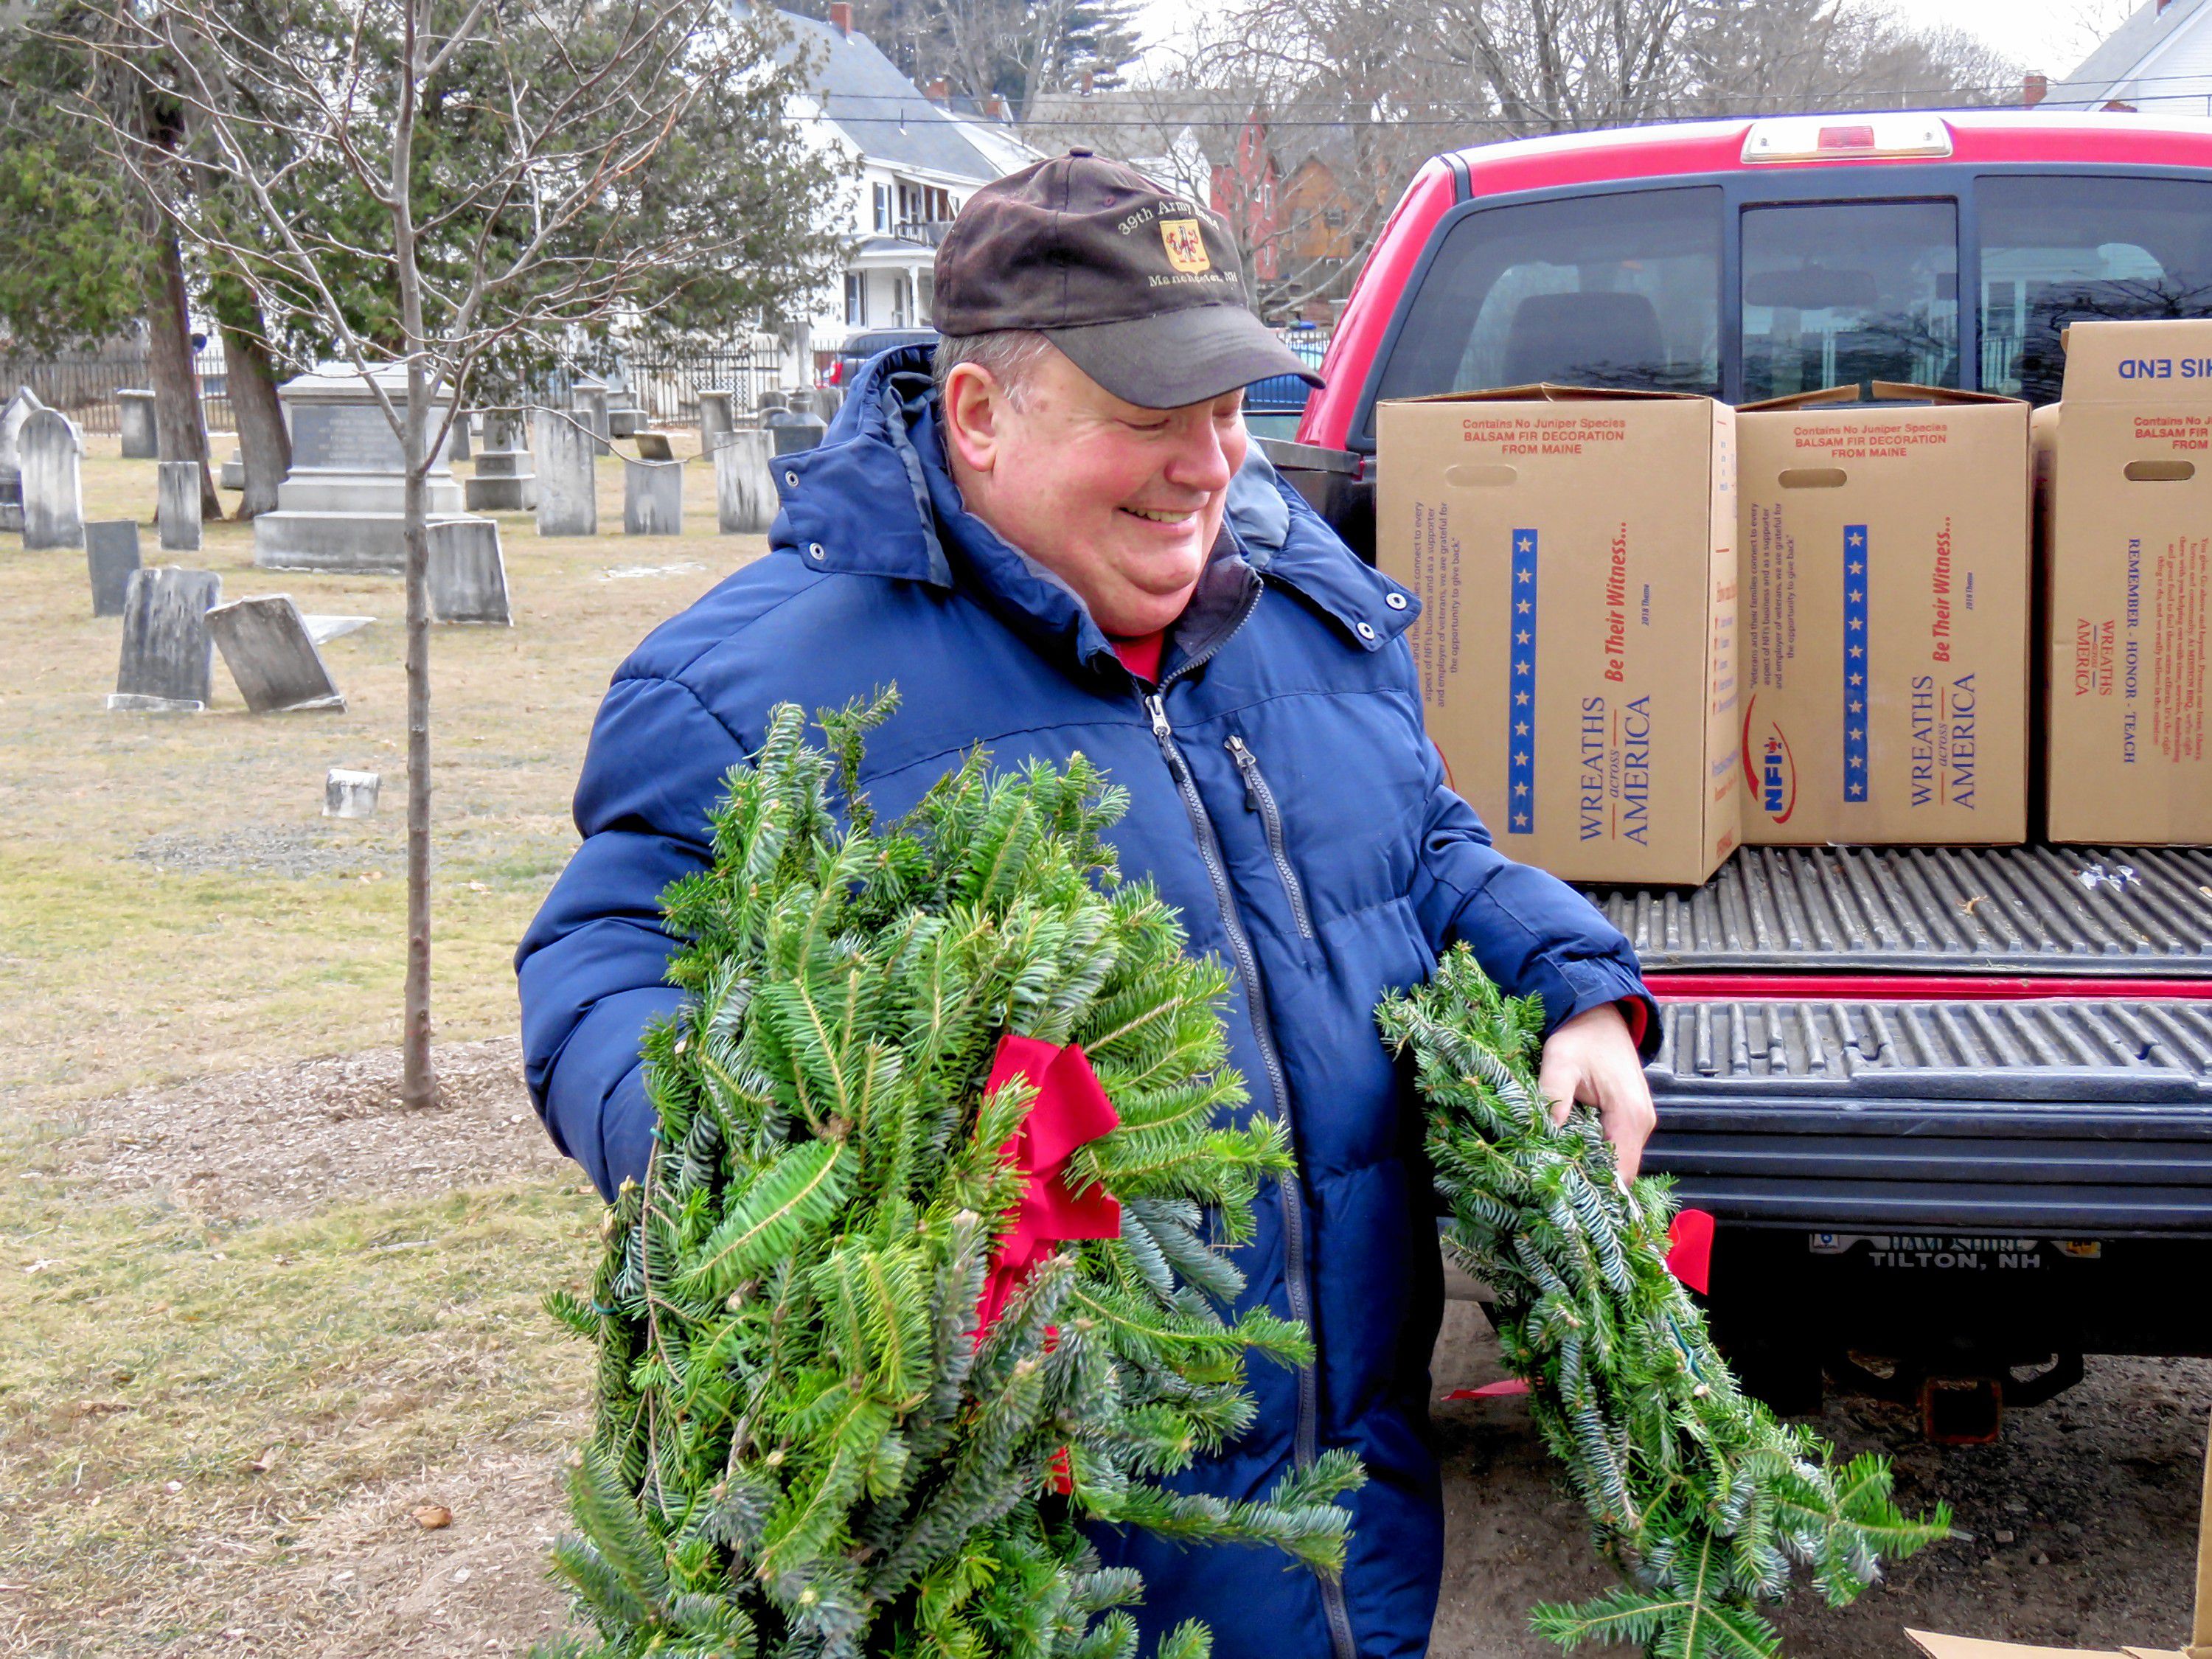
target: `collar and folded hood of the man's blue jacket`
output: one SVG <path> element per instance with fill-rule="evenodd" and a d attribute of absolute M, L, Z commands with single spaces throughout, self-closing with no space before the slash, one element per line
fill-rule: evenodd
<path fill-rule="evenodd" d="M 936 427 L 929 347 L 869 361 L 814 449 L 772 460 L 783 511 L 776 553 L 816 571 L 971 588 L 1009 626 L 1086 668 L 1117 664 L 1088 606 L 967 511 Z M 1197 655 L 1225 604 L 1259 573 L 1296 591 L 1358 650 L 1380 650 L 1420 615 L 1413 595 L 1354 557 L 1259 453 L 1230 484 L 1223 538 L 1172 655 Z"/>

